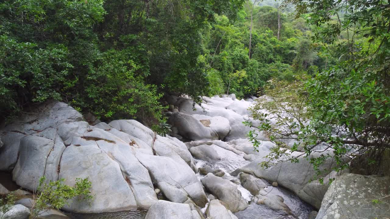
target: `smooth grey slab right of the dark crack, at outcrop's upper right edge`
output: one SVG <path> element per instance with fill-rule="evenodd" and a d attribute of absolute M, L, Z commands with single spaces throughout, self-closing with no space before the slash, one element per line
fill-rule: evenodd
<path fill-rule="evenodd" d="M 193 158 L 186 145 L 176 138 L 157 135 L 153 149 L 156 155 L 170 157 L 177 162 L 183 162 L 190 166 L 192 170 L 197 171 Z"/>

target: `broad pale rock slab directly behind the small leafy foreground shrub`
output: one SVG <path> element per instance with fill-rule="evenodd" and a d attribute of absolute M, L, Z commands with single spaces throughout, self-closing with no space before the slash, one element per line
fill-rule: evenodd
<path fill-rule="evenodd" d="M 99 148 L 97 141 L 83 141 L 85 142 L 78 142 L 81 146 L 71 145 L 64 150 L 58 177 L 65 178 L 67 185 L 74 185 L 76 178 L 89 177 L 94 198 L 91 205 L 75 198 L 63 209 L 80 213 L 137 209 L 138 205 L 131 185 L 122 175 L 119 164 Z M 100 141 L 99 143 L 105 142 Z M 151 191 L 156 196 L 154 190 Z"/>

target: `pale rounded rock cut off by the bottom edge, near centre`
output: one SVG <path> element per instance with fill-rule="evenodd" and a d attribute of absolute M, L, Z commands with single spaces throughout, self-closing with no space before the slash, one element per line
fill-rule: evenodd
<path fill-rule="evenodd" d="M 204 219 L 189 204 L 157 201 L 146 214 L 145 219 Z"/>

